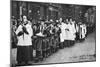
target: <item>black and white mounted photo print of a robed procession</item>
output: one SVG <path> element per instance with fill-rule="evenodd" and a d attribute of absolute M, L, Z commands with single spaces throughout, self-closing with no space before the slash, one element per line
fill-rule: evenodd
<path fill-rule="evenodd" d="M 96 5 L 10 0 L 10 66 L 96 61 Z"/>

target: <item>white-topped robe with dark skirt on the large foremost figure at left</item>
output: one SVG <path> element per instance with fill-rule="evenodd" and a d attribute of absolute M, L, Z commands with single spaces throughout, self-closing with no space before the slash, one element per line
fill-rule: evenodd
<path fill-rule="evenodd" d="M 30 24 L 26 24 L 26 31 L 28 34 L 23 32 L 22 35 L 18 35 L 21 31 L 23 31 L 23 26 L 19 25 L 16 30 L 16 35 L 18 39 L 17 43 L 17 61 L 18 63 L 28 63 L 32 59 L 32 39 L 31 36 L 33 35 L 33 31 Z"/>

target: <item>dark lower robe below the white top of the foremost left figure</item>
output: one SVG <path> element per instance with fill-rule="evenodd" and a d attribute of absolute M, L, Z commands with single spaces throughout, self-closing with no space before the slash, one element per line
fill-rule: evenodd
<path fill-rule="evenodd" d="M 32 59 L 32 46 L 18 46 L 17 47 L 17 61 L 25 64 Z"/>

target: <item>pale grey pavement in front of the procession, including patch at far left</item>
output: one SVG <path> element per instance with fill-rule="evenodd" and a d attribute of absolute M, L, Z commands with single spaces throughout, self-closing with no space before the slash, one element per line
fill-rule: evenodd
<path fill-rule="evenodd" d="M 96 60 L 96 39 L 95 32 L 89 34 L 85 41 L 77 42 L 73 47 L 67 47 L 58 50 L 58 52 L 52 54 L 42 62 L 36 64 L 49 64 L 49 63 L 64 63 L 64 62 L 84 62 Z M 16 64 L 17 49 L 11 50 L 12 64 Z M 34 64 L 34 63 L 33 63 Z"/>

